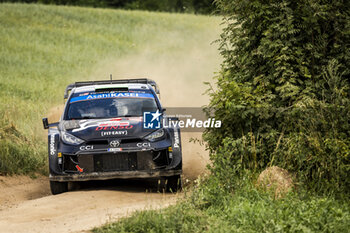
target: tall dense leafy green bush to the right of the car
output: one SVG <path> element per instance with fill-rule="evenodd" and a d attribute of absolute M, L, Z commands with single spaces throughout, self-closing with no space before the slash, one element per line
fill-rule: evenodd
<path fill-rule="evenodd" d="M 208 115 L 212 173 L 234 189 L 277 165 L 320 193 L 350 194 L 346 1 L 217 0 L 226 15 Z M 237 187 L 237 186 L 236 186 Z"/>

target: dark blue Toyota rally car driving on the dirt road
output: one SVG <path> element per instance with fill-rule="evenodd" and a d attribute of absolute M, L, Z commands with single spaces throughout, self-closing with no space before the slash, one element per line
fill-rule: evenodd
<path fill-rule="evenodd" d="M 52 194 L 68 191 L 68 182 L 117 178 L 159 178 L 168 190 L 181 188 L 180 129 L 165 127 L 158 95 L 149 79 L 68 85 L 60 121 L 43 118 Z"/>

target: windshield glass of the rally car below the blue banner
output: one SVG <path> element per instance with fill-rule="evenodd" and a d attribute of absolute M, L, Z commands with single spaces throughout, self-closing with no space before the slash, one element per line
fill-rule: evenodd
<path fill-rule="evenodd" d="M 104 98 L 73 102 L 69 105 L 67 120 L 143 116 L 155 112 L 154 98 Z"/>

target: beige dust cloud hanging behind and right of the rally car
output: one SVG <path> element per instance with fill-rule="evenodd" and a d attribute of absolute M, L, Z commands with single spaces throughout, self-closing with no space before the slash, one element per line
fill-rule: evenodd
<path fill-rule="evenodd" d="M 150 78 L 160 88 L 161 102 L 165 107 L 202 107 L 209 102 L 203 95 L 208 88 L 203 82 L 213 83 L 220 67 L 220 56 L 213 37 L 203 38 L 195 46 L 181 45 L 176 52 L 155 54 L 152 46 L 141 53 L 109 61 L 99 66 L 91 80 L 109 77 L 113 79 Z M 106 79 L 106 78 L 105 78 Z M 201 140 L 201 133 L 182 132 L 184 178 L 194 180 L 205 171 L 209 161 L 205 146 L 190 142 Z"/>

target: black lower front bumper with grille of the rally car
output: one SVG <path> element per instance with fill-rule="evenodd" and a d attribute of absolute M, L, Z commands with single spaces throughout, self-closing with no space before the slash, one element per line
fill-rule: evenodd
<path fill-rule="evenodd" d="M 169 152 L 168 148 L 62 154 L 61 159 L 58 169 L 50 170 L 51 181 L 156 178 L 182 173 L 181 154 Z"/>

